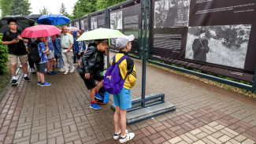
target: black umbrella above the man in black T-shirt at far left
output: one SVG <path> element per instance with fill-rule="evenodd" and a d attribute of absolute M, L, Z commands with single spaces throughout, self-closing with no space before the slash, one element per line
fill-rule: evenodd
<path fill-rule="evenodd" d="M 9 16 L 7 15 L 6 17 L 3 17 L 2 20 L 0 20 L 0 32 L 4 33 L 5 31 L 9 30 L 7 20 L 13 19 L 17 21 L 17 30 L 23 31 L 24 28 L 31 27 L 35 24 L 35 20 L 31 20 L 25 17 L 22 17 L 20 15 L 14 15 L 14 16 Z"/>

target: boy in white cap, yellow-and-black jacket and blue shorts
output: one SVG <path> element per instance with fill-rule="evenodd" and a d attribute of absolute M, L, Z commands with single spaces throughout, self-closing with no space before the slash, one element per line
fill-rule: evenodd
<path fill-rule="evenodd" d="M 132 49 L 132 41 L 134 35 L 121 36 L 117 38 L 116 46 L 119 48 L 119 53 L 116 54 L 115 60 L 110 61 L 110 65 L 117 62 L 124 55 L 128 56 L 128 51 Z M 121 74 L 121 79 L 125 79 L 124 87 L 119 94 L 113 94 L 113 104 L 116 106 L 116 111 L 113 115 L 113 122 L 115 127 L 114 139 L 119 138 L 119 142 L 128 142 L 134 138 L 134 133 L 128 133 L 126 130 L 126 113 L 127 109 L 132 108 L 131 88 L 135 86 L 136 72 L 134 61 L 128 57 L 121 61 L 118 65 Z"/>

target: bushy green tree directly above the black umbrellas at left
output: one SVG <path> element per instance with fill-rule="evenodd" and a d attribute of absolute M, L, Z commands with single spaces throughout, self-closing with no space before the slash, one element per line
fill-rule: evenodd
<path fill-rule="evenodd" d="M 32 13 L 30 9 L 32 8 L 30 7 L 28 0 L 12 0 L 9 14 L 27 16 Z"/>

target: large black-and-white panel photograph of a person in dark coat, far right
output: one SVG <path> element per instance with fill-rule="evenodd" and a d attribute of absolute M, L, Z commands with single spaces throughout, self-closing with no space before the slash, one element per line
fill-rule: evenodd
<path fill-rule="evenodd" d="M 185 58 L 244 68 L 250 24 L 189 27 Z"/>

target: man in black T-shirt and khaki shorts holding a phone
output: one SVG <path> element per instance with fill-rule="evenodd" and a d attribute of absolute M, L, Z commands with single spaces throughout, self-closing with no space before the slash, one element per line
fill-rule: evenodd
<path fill-rule="evenodd" d="M 28 39 L 23 39 L 20 37 L 21 31 L 17 30 L 17 21 L 13 19 L 7 20 L 8 31 L 2 36 L 2 44 L 8 45 L 8 59 L 11 66 L 11 75 L 12 75 L 12 86 L 17 85 L 16 77 L 16 68 L 17 68 L 17 59 L 20 59 L 22 65 L 22 70 L 24 73 L 24 80 L 30 81 L 28 78 L 28 53 L 25 43 L 28 43 Z"/>

